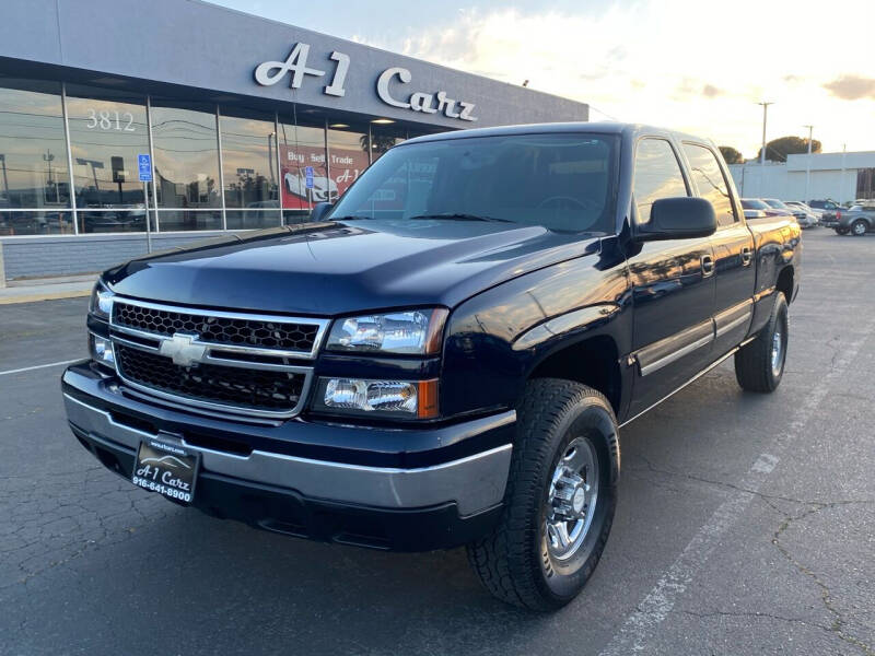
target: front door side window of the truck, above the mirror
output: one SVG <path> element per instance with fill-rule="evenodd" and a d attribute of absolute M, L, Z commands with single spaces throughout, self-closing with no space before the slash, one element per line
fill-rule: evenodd
<path fill-rule="evenodd" d="M 635 181 L 638 222 L 650 222 L 653 201 L 661 198 L 688 196 L 684 174 L 675 151 L 665 139 L 642 139 L 635 150 Z"/>

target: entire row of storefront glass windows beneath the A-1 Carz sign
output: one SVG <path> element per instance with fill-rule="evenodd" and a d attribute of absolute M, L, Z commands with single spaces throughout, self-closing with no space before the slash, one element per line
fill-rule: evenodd
<path fill-rule="evenodd" d="M 0 75 L 0 236 L 301 223 L 409 136 L 388 119 Z"/>

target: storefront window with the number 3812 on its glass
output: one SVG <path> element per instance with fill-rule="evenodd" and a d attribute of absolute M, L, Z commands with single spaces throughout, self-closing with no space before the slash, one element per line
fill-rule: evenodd
<path fill-rule="evenodd" d="M 137 155 L 149 152 L 145 97 L 70 84 L 67 120 L 79 232 L 144 231 Z"/>

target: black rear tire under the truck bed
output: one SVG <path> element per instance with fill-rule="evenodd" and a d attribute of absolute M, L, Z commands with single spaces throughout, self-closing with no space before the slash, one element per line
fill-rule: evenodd
<path fill-rule="evenodd" d="M 788 327 L 786 298 L 782 292 L 775 292 L 769 321 L 754 341 L 745 344 L 735 353 L 735 379 L 743 389 L 760 394 L 778 389 L 784 375 L 786 348 L 790 343 Z M 775 367 L 773 366 L 772 349 L 777 330 L 781 331 L 782 344 Z"/>

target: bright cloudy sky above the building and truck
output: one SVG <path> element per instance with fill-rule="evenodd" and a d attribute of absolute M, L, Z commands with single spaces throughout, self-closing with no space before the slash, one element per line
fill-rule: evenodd
<path fill-rule="evenodd" d="M 747 157 L 762 138 L 875 150 L 872 0 L 290 2 L 247 13 L 591 105 L 591 120 L 711 137 Z M 859 31 L 861 30 L 862 31 Z M 864 35 L 864 33 L 866 33 Z"/>

